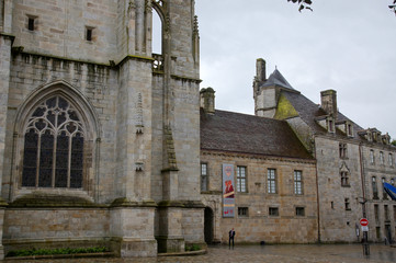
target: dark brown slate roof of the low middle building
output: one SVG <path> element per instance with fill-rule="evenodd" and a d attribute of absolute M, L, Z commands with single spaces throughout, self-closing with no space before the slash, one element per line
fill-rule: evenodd
<path fill-rule="evenodd" d="M 201 149 L 313 159 L 285 121 L 201 110 Z"/>

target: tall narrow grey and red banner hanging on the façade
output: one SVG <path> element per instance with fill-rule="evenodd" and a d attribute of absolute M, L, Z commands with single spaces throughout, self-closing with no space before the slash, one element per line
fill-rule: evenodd
<path fill-rule="evenodd" d="M 234 165 L 223 164 L 223 217 L 234 217 Z"/>

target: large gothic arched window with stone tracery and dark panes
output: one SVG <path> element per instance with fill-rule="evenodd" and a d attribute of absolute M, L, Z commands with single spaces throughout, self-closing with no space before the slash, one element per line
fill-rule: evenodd
<path fill-rule="evenodd" d="M 81 188 L 84 128 L 60 95 L 36 106 L 24 132 L 23 187 Z"/>

